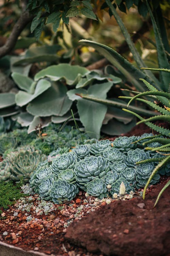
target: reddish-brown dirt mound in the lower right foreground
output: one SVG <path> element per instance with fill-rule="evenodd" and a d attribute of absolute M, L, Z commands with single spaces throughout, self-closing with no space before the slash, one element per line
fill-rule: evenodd
<path fill-rule="evenodd" d="M 153 208 L 164 185 L 160 184 L 150 191 L 145 200 L 136 197 L 104 205 L 80 221 L 74 221 L 67 228 L 65 237 L 92 253 L 170 255 L 170 187 Z"/>

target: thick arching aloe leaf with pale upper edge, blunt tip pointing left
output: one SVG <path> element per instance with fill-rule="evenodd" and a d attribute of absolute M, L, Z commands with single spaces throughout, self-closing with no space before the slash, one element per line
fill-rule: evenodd
<path fill-rule="evenodd" d="M 151 80 L 148 79 L 143 72 L 135 68 L 128 60 L 123 58 L 111 47 L 86 39 L 80 40 L 79 42 L 94 47 L 100 54 L 108 59 L 112 65 L 114 65 L 139 91 L 145 90 L 145 86 L 142 86 L 142 84 L 138 81 L 139 78 L 143 78 L 148 82 L 151 82 Z M 159 86 L 156 88 L 160 89 Z"/>

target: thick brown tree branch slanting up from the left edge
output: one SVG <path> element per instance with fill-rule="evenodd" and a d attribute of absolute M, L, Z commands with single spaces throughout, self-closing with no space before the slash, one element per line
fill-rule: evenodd
<path fill-rule="evenodd" d="M 27 26 L 27 24 L 33 20 L 33 18 L 34 15 L 30 15 L 28 11 L 21 14 L 5 44 L 0 47 L 0 58 L 11 52 L 17 42 L 20 33 Z"/>

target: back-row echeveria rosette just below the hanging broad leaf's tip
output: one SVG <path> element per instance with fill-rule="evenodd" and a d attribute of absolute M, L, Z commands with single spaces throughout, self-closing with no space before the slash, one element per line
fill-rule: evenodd
<path fill-rule="evenodd" d="M 90 145 L 90 152 L 92 155 L 100 156 L 103 155 L 103 151 L 106 148 L 111 147 L 111 141 L 109 140 L 99 140 L 96 143 Z"/>

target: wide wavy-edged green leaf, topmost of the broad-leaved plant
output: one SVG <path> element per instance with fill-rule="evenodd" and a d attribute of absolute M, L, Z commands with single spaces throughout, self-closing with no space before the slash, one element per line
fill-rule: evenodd
<path fill-rule="evenodd" d="M 77 84 L 80 77 L 88 72 L 89 70 L 84 67 L 80 67 L 78 65 L 71 66 L 67 63 L 61 63 L 58 65 L 52 65 L 46 69 L 39 71 L 35 75 L 34 79 L 35 81 L 43 77 L 49 77 L 52 81 L 65 79 L 68 85 L 73 85 Z"/>

